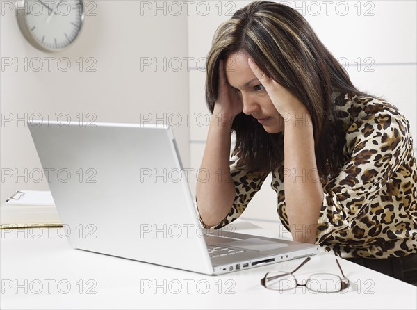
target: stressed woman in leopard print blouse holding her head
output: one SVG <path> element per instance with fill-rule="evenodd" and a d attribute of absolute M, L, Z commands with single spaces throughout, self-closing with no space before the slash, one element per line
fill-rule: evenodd
<path fill-rule="evenodd" d="M 204 227 L 236 220 L 272 172 L 293 240 L 416 282 L 417 163 L 398 108 L 354 88 L 304 17 L 274 2 L 218 28 L 206 78 Z"/>

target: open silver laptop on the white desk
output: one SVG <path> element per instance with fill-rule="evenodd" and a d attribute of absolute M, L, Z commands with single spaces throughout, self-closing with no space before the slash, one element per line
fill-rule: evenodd
<path fill-rule="evenodd" d="M 170 127 L 28 122 L 74 248 L 220 275 L 318 245 L 204 229 Z"/>

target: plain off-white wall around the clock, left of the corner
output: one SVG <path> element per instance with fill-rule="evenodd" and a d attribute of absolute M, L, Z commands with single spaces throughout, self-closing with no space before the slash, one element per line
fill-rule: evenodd
<path fill-rule="evenodd" d="M 1 1 L 1 8 L 6 1 Z M 14 1 L 8 1 L 13 3 Z M 22 36 L 17 26 L 14 11 L 3 11 L 0 22 L 0 53 L 2 61 L 15 58 L 28 60 L 24 66 L 4 67 L 1 70 L 1 117 L 12 115 L 12 122 L 3 122 L 1 130 L 1 197 L 7 197 L 19 189 L 48 190 L 46 179 L 38 181 L 41 165 L 31 140 L 26 122 L 17 122 L 16 117 L 35 117 L 40 113 L 47 121 L 47 114 L 67 113 L 78 122 L 80 113 L 84 120 L 96 122 L 140 122 L 141 113 L 152 113 L 162 119 L 164 113 L 188 112 L 188 70 L 172 70 L 174 57 L 184 58 L 187 50 L 187 16 L 185 13 L 166 15 L 163 10 L 142 10 L 140 1 L 88 1 L 90 16 L 79 39 L 66 51 L 47 54 L 33 48 Z M 95 6 L 95 5 L 96 6 Z M 143 7 L 142 7 L 143 8 Z M 95 14 L 91 15 L 91 14 Z M 38 67 L 33 60 L 39 57 L 54 57 L 51 71 Z M 56 66 L 57 60 L 67 57 L 71 68 L 63 72 Z M 91 58 L 86 61 L 87 58 Z M 167 66 L 144 67 L 141 60 L 157 58 Z M 83 58 L 83 70 L 77 60 Z M 95 61 L 95 63 L 92 63 Z M 32 65 L 30 65 L 32 64 Z M 62 63 L 65 65 L 65 63 Z M 171 67 L 169 67 L 171 64 Z M 86 66 L 93 65 L 87 72 Z M 154 117 L 153 113 L 157 113 Z M 26 118 L 27 118 L 26 117 Z M 65 118 L 62 119 L 65 121 Z M 183 162 L 189 162 L 188 127 L 174 128 Z M 111 145 L 109 145 L 111 147 Z M 6 174 L 13 172 L 11 177 Z M 21 174 L 16 178 L 16 173 Z"/>

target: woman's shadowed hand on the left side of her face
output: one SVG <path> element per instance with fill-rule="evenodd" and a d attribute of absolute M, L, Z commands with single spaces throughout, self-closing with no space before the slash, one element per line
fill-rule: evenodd
<path fill-rule="evenodd" d="M 236 115 L 243 111 L 243 104 L 238 91 L 231 88 L 227 82 L 224 70 L 224 60 L 220 60 L 218 97 L 215 100 L 213 115 L 218 117 L 222 124 L 230 124 Z"/>

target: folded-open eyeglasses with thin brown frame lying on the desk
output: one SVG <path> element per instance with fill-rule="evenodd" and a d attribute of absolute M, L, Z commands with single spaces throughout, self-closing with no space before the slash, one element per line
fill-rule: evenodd
<path fill-rule="evenodd" d="M 297 279 L 293 276 L 293 273 L 302 268 L 302 266 L 310 261 L 310 259 L 310 257 L 307 257 L 300 266 L 293 270 L 293 272 L 268 272 L 265 277 L 261 279 L 261 284 L 265 286 L 265 288 L 276 291 L 286 291 L 296 288 L 297 286 L 305 286 L 309 291 L 323 293 L 336 293 L 349 287 L 349 280 L 343 274 L 341 265 L 338 263 L 337 259 L 336 263 L 338 268 L 341 270 L 343 279 L 332 273 L 315 273 L 307 279 L 305 284 L 298 284 Z"/>

